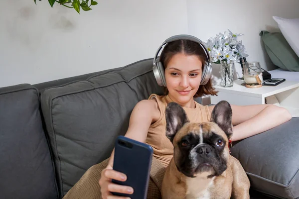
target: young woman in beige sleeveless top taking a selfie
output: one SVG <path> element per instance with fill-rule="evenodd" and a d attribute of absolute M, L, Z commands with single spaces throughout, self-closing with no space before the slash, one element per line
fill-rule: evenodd
<path fill-rule="evenodd" d="M 202 72 L 207 62 L 205 50 L 198 42 L 183 39 L 165 45 L 160 62 L 164 67 L 165 95 L 152 94 L 149 100 L 136 104 L 130 118 L 126 137 L 146 142 L 153 147 L 154 157 L 165 167 L 173 156 L 173 146 L 165 136 L 165 107 L 168 102 L 180 104 L 191 122 L 207 122 L 214 106 L 203 106 L 194 97 L 216 95 L 209 80 L 201 85 Z M 282 107 L 270 104 L 237 106 L 233 110 L 233 141 L 241 140 L 278 126 L 291 119 L 290 113 Z M 275 112 L 275 114 L 273 114 Z M 103 199 L 123 199 L 111 192 L 132 194 L 131 187 L 116 185 L 111 179 L 126 181 L 126 175 L 114 171 L 114 152 L 108 166 L 102 171 L 99 184 Z"/>

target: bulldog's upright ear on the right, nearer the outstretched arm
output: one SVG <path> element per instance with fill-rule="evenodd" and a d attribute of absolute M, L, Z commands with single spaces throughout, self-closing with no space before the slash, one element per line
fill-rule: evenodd
<path fill-rule="evenodd" d="M 232 108 L 225 100 L 219 101 L 211 113 L 210 121 L 215 122 L 225 132 L 228 139 L 233 135 L 232 116 Z"/>

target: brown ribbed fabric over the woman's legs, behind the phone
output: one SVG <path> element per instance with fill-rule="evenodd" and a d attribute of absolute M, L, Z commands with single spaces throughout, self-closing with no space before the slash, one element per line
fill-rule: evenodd
<path fill-rule="evenodd" d="M 89 168 L 63 199 L 102 199 L 99 180 L 102 170 L 107 167 L 108 161 L 109 159 L 106 159 Z M 148 199 L 161 198 L 161 185 L 165 169 L 157 159 L 152 158 Z"/>

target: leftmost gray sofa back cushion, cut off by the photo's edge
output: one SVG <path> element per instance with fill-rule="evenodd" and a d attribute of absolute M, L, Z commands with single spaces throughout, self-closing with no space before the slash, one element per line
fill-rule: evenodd
<path fill-rule="evenodd" d="M 54 165 L 30 85 L 0 88 L 0 198 L 58 199 Z"/>

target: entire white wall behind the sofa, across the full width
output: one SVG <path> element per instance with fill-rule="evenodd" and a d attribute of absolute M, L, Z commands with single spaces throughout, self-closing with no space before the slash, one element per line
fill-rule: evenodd
<path fill-rule="evenodd" d="M 299 17 L 299 0 L 98 0 L 81 14 L 47 0 L 0 6 L 0 87 L 40 83 L 153 57 L 174 34 L 203 41 L 230 28 L 245 33 L 247 60 L 273 69 L 260 30 L 279 31 L 272 15 Z M 268 59 L 268 60 L 267 60 Z"/>

